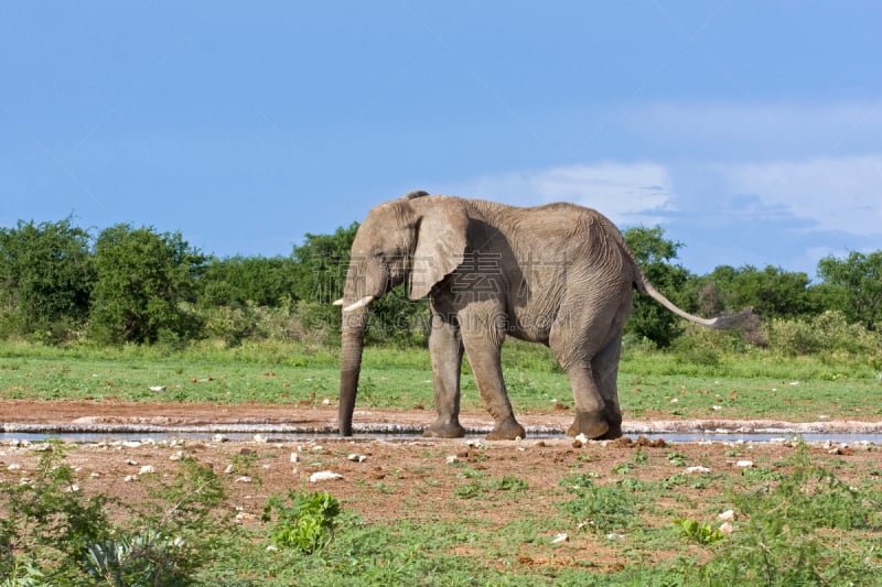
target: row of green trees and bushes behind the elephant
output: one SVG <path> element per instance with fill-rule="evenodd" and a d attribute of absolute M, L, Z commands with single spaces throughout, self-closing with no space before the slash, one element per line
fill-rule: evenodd
<path fill-rule="evenodd" d="M 343 291 L 357 222 L 330 235 L 306 235 L 288 257 L 206 254 L 180 232 L 116 225 L 93 235 L 71 218 L 20 220 L 0 228 L 0 339 L 50 344 L 187 344 L 215 338 L 336 340 Z M 809 319 L 835 312 L 849 325 L 882 326 L 882 251 L 827 257 L 818 281 L 767 265 L 717 267 L 697 275 L 677 263 L 681 243 L 660 227 L 624 232 L 656 287 L 685 309 L 713 316 L 752 307 L 763 320 Z M 373 307 L 368 338 L 421 345 L 424 301 L 398 292 Z M 681 322 L 635 297 L 626 334 L 671 345 Z"/>

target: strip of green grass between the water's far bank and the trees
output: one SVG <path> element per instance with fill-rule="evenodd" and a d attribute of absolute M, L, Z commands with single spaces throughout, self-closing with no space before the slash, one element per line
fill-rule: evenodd
<path fill-rule="evenodd" d="M 503 361 L 518 413 L 572 407 L 567 378 L 548 349 L 509 341 Z M 280 343 L 234 348 L 203 343 L 183 350 L 0 343 L 0 398 L 302 404 L 336 398 L 338 365 L 338 349 Z M 462 389 L 463 409 L 482 410 L 467 361 Z M 696 361 L 625 348 L 619 391 L 625 417 L 632 418 L 882 416 L 876 401 L 882 374 L 853 357 L 793 358 L 752 349 Z M 411 409 L 431 402 L 427 350 L 365 349 L 359 405 Z"/>

